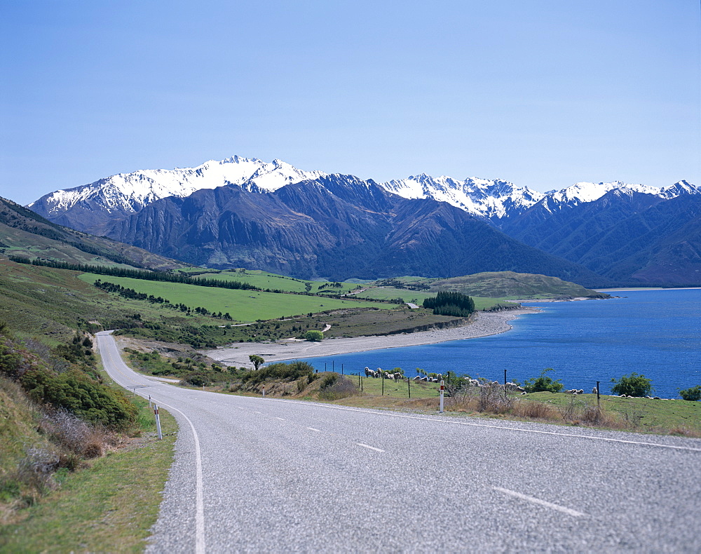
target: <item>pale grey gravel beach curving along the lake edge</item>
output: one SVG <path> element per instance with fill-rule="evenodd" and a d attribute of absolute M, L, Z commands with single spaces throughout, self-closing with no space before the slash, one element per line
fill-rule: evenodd
<path fill-rule="evenodd" d="M 537 308 L 520 308 L 499 312 L 477 312 L 477 317 L 472 323 L 462 327 L 450 327 L 449 329 L 435 329 L 397 335 L 324 339 L 322 342 L 299 341 L 299 339 L 262 343 L 239 342 L 231 346 L 207 350 L 204 353 L 206 356 L 226 365 L 248 367 L 251 365 L 248 356 L 252 354 L 261 356 L 266 360 L 266 363 L 273 363 L 299 358 L 322 358 L 324 356 L 340 356 L 342 354 L 370 350 L 402 348 L 404 346 L 423 346 L 425 344 L 500 335 L 513 328 L 509 323 L 511 320 L 529 313 L 539 313 L 540 311 Z"/>

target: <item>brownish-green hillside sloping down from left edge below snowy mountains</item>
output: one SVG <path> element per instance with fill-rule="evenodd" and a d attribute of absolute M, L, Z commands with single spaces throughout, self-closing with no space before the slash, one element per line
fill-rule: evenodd
<path fill-rule="evenodd" d="M 0 198 L 0 252 L 8 256 L 154 270 L 186 265 L 110 238 L 61 227 L 6 198 Z"/>

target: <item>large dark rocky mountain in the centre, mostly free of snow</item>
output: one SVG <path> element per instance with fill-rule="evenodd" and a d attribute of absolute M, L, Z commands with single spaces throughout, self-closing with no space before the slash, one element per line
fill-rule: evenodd
<path fill-rule="evenodd" d="M 164 198 L 118 220 L 108 234 L 193 264 L 302 278 L 518 271 L 592 286 L 608 282 L 452 205 L 407 200 L 350 175 L 263 195 L 228 186 Z"/>

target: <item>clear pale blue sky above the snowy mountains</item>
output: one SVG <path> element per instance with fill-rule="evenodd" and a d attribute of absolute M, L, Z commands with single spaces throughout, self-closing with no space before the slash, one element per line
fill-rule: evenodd
<path fill-rule="evenodd" d="M 0 2 L 0 196 L 233 154 L 701 185 L 699 0 Z"/>

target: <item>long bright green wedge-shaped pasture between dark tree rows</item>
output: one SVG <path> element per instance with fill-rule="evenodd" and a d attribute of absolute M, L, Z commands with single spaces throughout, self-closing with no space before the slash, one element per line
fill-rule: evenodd
<path fill-rule="evenodd" d="M 147 295 L 166 298 L 171 304 L 182 303 L 191 308 L 201 306 L 212 312 L 229 312 L 234 320 L 242 322 L 275 319 L 300 313 L 317 313 L 342 308 L 378 307 L 389 309 L 393 307 L 391 304 L 379 304 L 377 302 L 198 287 L 197 285 L 184 285 L 182 283 L 162 283 L 128 277 L 101 276 L 95 273 L 83 273 L 80 278 L 85 283 L 94 283 L 97 279 L 102 279 L 102 281 L 116 283 Z"/>

